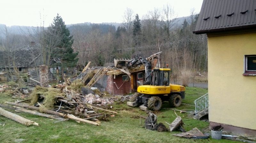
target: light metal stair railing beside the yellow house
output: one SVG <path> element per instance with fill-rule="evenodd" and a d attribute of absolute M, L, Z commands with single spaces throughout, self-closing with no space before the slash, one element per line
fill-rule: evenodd
<path fill-rule="evenodd" d="M 208 104 L 208 93 L 204 94 L 203 96 L 199 97 L 198 99 L 196 99 L 194 101 L 195 106 L 196 106 L 196 113 L 198 113 L 199 111 L 206 109 L 209 104 Z"/>

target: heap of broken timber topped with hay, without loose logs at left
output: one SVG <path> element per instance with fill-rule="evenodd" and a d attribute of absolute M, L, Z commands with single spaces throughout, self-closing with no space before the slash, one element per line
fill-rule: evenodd
<path fill-rule="evenodd" d="M 95 97 L 96 99 L 96 97 L 98 97 L 95 101 L 98 101 L 98 102 L 106 101 L 106 100 L 100 99 L 99 95 L 96 95 L 96 94 L 95 95 L 88 94 L 88 95 L 90 96 L 90 98 Z M 86 100 L 89 98 L 88 95 L 77 93 L 72 89 L 72 87 L 53 86 L 51 88 L 36 87 L 36 89 L 31 93 L 30 98 L 31 98 L 31 104 L 38 108 L 36 110 L 39 110 L 40 112 L 46 112 L 47 110 L 55 111 L 57 113 L 60 112 L 65 114 L 64 116 L 61 115 L 61 117 L 69 118 L 69 119 L 74 119 L 74 116 L 75 117 L 79 116 L 81 119 L 84 118 L 86 120 L 91 120 L 92 122 L 96 122 L 99 124 L 100 121 L 96 118 L 101 117 L 104 114 L 102 112 L 100 113 L 100 111 L 117 114 L 117 112 L 115 111 L 110 111 L 110 110 L 102 109 L 99 107 L 95 107 L 92 104 L 90 104 L 92 102 L 90 103 L 85 102 L 85 101 L 88 101 Z M 104 104 L 106 105 L 106 103 Z M 47 114 L 50 114 L 50 113 L 47 113 Z M 81 121 L 78 118 L 74 120 Z M 84 122 L 84 121 L 81 121 L 81 122 Z"/>

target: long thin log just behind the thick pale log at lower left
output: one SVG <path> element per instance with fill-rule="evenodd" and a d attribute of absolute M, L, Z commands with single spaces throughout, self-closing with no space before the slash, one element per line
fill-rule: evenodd
<path fill-rule="evenodd" d="M 0 104 L 0 107 L 4 107 L 4 108 L 7 108 L 7 109 L 12 109 L 12 110 L 17 110 L 17 111 L 20 111 L 20 112 L 29 113 L 29 114 L 33 114 L 33 115 L 37 115 L 37 116 L 42 116 L 42 117 L 47 117 L 47 118 L 52 118 L 52 119 L 57 119 L 57 120 L 64 120 L 64 118 L 61 118 L 59 116 L 54 116 L 54 115 L 39 113 L 39 112 L 30 111 L 30 110 L 26 110 L 26 109 L 6 106 L 6 105 L 3 105 L 3 104 Z"/>

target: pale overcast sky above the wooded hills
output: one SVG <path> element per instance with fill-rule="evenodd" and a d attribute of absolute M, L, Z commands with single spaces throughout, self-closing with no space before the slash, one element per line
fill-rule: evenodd
<path fill-rule="evenodd" d="M 44 26 L 48 26 L 57 13 L 66 24 L 121 23 L 126 7 L 142 18 L 148 11 L 166 4 L 173 7 L 178 17 L 183 17 L 188 16 L 193 8 L 199 13 L 202 3 L 203 0 L 2 0 L 0 24 L 40 26 L 44 18 Z"/>

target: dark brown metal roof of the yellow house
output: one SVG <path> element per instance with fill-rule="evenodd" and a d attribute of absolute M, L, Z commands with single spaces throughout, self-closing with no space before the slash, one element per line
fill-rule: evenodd
<path fill-rule="evenodd" d="M 256 0 L 204 0 L 195 34 L 256 28 Z"/>

